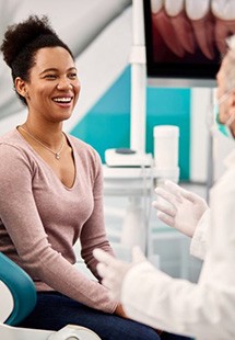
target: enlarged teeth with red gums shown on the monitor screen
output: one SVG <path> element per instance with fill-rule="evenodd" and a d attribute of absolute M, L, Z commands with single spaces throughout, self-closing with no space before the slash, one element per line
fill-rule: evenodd
<path fill-rule="evenodd" d="M 226 53 L 225 39 L 235 33 L 235 0 L 151 0 L 154 43 L 178 57 L 196 47 L 214 58 L 214 47 Z"/>

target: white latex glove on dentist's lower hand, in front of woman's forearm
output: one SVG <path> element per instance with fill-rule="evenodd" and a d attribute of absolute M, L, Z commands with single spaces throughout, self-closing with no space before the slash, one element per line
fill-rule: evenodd
<path fill-rule="evenodd" d="M 122 280 L 129 269 L 137 263 L 146 261 L 139 247 L 133 247 L 132 249 L 131 263 L 118 260 L 102 249 L 95 249 L 93 254 L 99 262 L 97 264 L 97 272 L 103 277 L 103 285 L 109 290 L 109 296 L 118 301 L 120 301 Z"/>

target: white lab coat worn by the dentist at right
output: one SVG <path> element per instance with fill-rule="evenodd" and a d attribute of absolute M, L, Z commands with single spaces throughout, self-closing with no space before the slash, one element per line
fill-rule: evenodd
<path fill-rule="evenodd" d="M 211 190 L 210 225 L 198 284 L 172 279 L 149 262 L 133 265 L 125 276 L 121 303 L 133 319 L 200 340 L 235 339 L 235 151 L 226 172 Z M 196 238 L 204 240 L 201 225 Z M 191 250 L 200 248 L 192 240 Z"/>

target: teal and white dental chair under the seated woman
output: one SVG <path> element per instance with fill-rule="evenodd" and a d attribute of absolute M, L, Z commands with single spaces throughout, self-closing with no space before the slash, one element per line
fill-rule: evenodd
<path fill-rule="evenodd" d="M 36 290 L 31 277 L 0 252 L 1 340 L 101 340 L 92 330 L 68 325 L 59 331 L 16 327 L 34 308 Z"/>

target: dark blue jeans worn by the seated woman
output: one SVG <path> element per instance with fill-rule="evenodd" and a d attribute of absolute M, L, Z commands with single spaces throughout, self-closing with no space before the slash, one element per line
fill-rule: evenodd
<path fill-rule="evenodd" d="M 68 324 L 80 325 L 95 331 L 102 340 L 160 340 L 151 327 L 86 307 L 59 293 L 38 293 L 37 304 L 19 327 L 59 330 Z M 186 338 L 161 339 L 183 340 Z M 165 338 L 164 338 L 165 337 Z"/>

